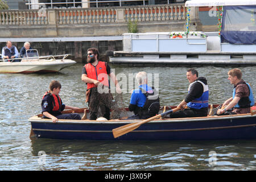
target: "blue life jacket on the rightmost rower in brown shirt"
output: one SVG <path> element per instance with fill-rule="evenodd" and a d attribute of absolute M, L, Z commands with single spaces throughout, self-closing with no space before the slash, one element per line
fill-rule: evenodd
<path fill-rule="evenodd" d="M 240 98 L 240 101 L 234 107 L 246 108 L 246 107 L 254 106 L 253 90 L 251 90 L 251 86 L 248 83 L 246 83 L 246 85 L 249 88 L 249 92 L 250 92 L 249 97 Z M 233 89 L 233 99 L 235 96 L 236 96 L 236 87 Z"/>

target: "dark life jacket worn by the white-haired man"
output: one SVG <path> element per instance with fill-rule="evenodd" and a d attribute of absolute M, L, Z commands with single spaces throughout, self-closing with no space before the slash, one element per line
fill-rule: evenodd
<path fill-rule="evenodd" d="M 140 107 L 138 111 L 139 117 L 141 117 L 141 119 L 147 119 L 158 114 L 160 110 L 160 101 L 157 90 L 154 87 L 152 87 L 152 90 L 148 91 L 142 88 L 139 89 L 146 96 L 145 104 L 143 107 Z"/>

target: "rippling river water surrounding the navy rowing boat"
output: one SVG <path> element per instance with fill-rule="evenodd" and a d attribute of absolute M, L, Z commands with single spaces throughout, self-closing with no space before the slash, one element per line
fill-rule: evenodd
<path fill-rule="evenodd" d="M 66 105 L 85 107 L 86 86 L 81 63 L 49 74 L 0 74 L 0 170 L 255 170 L 256 140 L 224 141 L 86 141 L 29 138 L 27 121 L 40 113 L 49 82 L 59 80 Z M 187 93 L 189 67 L 113 65 L 115 75 L 146 71 L 158 83 L 161 105 L 177 105 Z M 208 79 L 210 104 L 232 96 L 227 72 L 232 67 L 197 67 Z M 256 94 L 256 67 L 240 67 Z M 122 75 L 122 74 L 121 74 Z M 123 76 L 123 75 L 122 75 Z M 125 78 L 122 78 L 125 81 Z M 153 85 L 154 86 L 154 85 Z M 123 94 L 129 105 L 129 86 Z M 202 136 L 203 137 L 203 136 Z M 40 153 L 40 152 L 41 153 Z M 42 153 L 43 152 L 43 153 Z M 215 155 L 210 155 L 212 154 Z M 42 155 L 43 154 L 43 155 Z"/>

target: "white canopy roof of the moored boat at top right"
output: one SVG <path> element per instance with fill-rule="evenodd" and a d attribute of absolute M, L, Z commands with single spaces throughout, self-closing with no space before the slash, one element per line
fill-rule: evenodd
<path fill-rule="evenodd" d="M 256 5 L 256 0 L 190 0 L 185 2 L 185 6 L 243 6 Z"/>

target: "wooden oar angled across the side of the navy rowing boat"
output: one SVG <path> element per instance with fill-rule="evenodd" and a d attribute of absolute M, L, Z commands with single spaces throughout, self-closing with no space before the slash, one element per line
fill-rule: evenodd
<path fill-rule="evenodd" d="M 164 115 L 174 113 L 177 110 L 180 110 L 180 107 L 176 107 L 175 109 L 168 110 L 165 113 L 155 115 L 151 118 L 143 120 L 142 122 L 130 123 L 130 124 L 127 124 L 127 125 L 124 125 L 124 126 L 117 127 L 116 129 L 112 130 L 114 138 L 117 138 L 117 137 L 120 137 L 120 136 L 122 136 L 126 133 L 129 133 L 130 131 L 133 131 L 133 130 L 137 129 L 139 126 L 143 125 L 144 123 L 147 123 L 147 122 L 152 121 L 154 119 L 158 119 L 160 117 L 164 117 Z"/>

